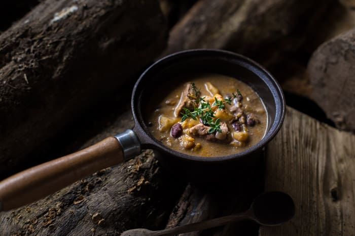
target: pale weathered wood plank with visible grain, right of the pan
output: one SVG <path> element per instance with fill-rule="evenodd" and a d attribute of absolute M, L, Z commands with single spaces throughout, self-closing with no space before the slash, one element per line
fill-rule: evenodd
<path fill-rule="evenodd" d="M 288 108 L 267 148 L 265 191 L 283 191 L 296 216 L 260 235 L 355 235 L 355 135 Z"/>

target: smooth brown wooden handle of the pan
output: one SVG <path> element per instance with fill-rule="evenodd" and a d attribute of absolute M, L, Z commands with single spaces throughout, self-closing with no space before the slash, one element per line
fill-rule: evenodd
<path fill-rule="evenodd" d="M 0 182 L 0 210 L 7 211 L 34 202 L 123 161 L 119 141 L 108 137 L 79 152 L 24 170 Z"/>

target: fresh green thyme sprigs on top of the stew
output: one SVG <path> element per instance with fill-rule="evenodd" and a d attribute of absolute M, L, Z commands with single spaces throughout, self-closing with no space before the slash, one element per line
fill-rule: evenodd
<path fill-rule="evenodd" d="M 195 96 L 198 97 L 199 93 L 201 93 L 200 89 L 197 90 L 195 83 L 192 83 L 192 89 L 195 92 Z M 236 98 L 237 95 L 241 96 L 241 93 L 239 89 L 237 89 L 237 95 L 232 93 L 233 97 Z M 199 98 L 195 100 L 196 104 L 200 104 L 199 107 L 195 107 L 193 111 L 190 111 L 187 108 L 183 108 L 185 113 L 180 113 L 183 117 L 181 119 L 182 122 L 184 122 L 187 118 L 191 117 L 193 120 L 200 119 L 202 120 L 202 123 L 204 125 L 208 125 L 210 128 L 208 130 L 208 133 L 214 133 L 215 131 L 222 133 L 221 130 L 221 124 L 220 124 L 220 118 L 214 119 L 215 117 L 215 112 L 212 110 L 213 107 L 218 107 L 218 110 L 226 109 L 224 104 L 231 105 L 232 99 L 231 98 L 226 98 L 224 102 L 221 100 L 218 100 L 215 97 L 215 102 L 212 104 L 212 106 L 209 104 L 209 102 L 205 101 L 205 97 Z"/>

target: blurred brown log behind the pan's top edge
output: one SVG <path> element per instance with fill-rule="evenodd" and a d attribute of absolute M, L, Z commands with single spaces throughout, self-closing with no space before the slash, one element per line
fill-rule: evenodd
<path fill-rule="evenodd" d="M 232 1 L 200 0 L 170 31 L 164 54 L 194 48 L 226 49 L 248 56 L 267 53 L 270 59 L 280 43 L 297 48 L 300 38 L 285 42 L 311 15 L 330 1 Z M 286 45 L 288 44 L 288 45 Z M 277 50 L 276 50 L 277 51 Z"/>

